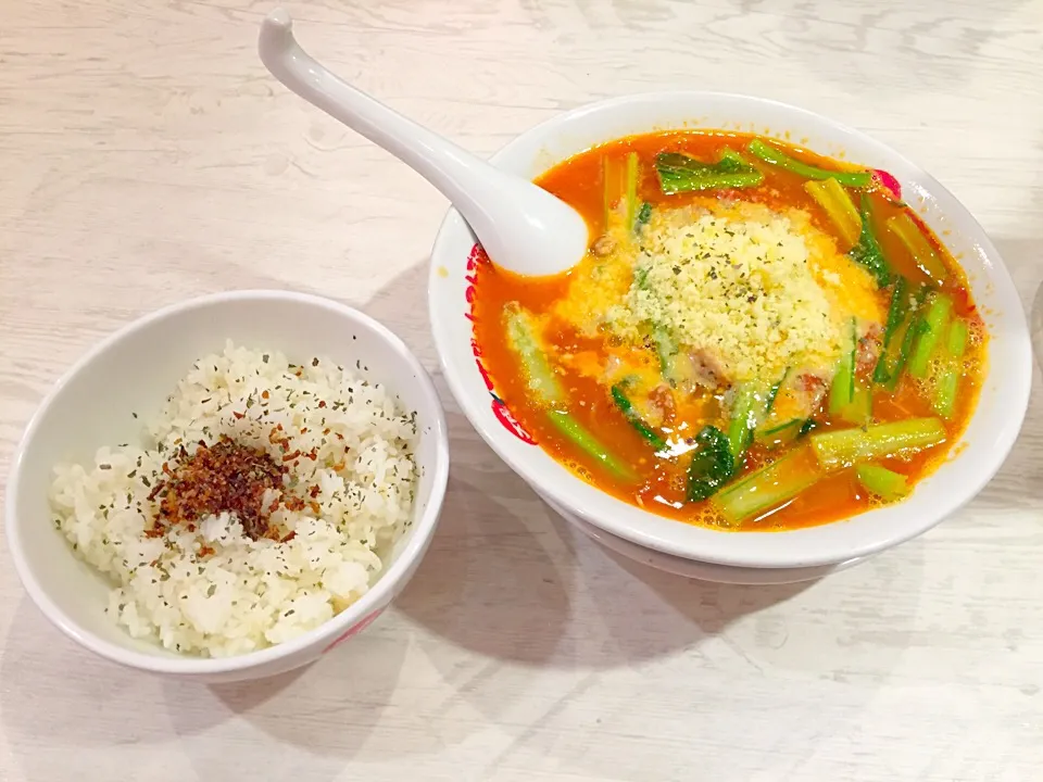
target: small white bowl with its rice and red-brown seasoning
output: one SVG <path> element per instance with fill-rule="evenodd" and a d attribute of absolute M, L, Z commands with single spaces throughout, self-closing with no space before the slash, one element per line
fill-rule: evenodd
<path fill-rule="evenodd" d="M 87 648 L 251 679 L 387 608 L 448 475 L 438 395 L 391 331 L 318 297 L 221 293 L 126 326 L 58 382 L 15 453 L 7 535 Z"/>

